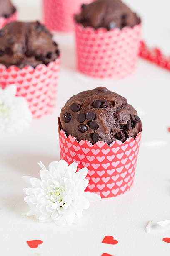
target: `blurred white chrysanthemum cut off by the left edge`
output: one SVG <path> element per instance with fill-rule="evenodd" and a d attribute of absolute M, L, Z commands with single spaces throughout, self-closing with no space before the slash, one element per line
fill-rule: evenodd
<path fill-rule="evenodd" d="M 15 84 L 0 88 L 0 134 L 20 131 L 32 120 L 28 102 L 24 97 L 16 97 Z"/>

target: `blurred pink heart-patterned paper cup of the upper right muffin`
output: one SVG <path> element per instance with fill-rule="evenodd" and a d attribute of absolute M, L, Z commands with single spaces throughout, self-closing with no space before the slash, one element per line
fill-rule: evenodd
<path fill-rule="evenodd" d="M 92 77 L 127 77 L 134 72 L 138 61 L 141 30 L 141 24 L 107 31 L 75 23 L 77 68 Z"/>

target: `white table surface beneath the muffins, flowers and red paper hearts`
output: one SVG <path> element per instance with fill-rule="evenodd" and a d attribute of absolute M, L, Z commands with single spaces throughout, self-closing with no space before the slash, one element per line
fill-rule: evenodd
<path fill-rule="evenodd" d="M 40 18 L 39 0 L 14 0 L 20 18 Z M 143 38 L 150 45 L 170 53 L 169 0 L 127 0 L 144 20 Z M 51 116 L 34 120 L 20 134 L 0 138 L 0 255 L 3 256 L 169 256 L 170 228 L 154 227 L 145 233 L 148 220 L 170 219 L 170 72 L 142 59 L 133 76 L 121 81 L 93 79 L 75 69 L 72 35 L 56 34 L 62 50 L 57 107 Z M 126 97 L 143 120 L 135 184 L 123 196 L 103 199 L 84 211 L 80 225 L 57 227 L 23 217 L 28 211 L 23 201 L 27 186 L 23 175 L 38 177 L 42 161 L 46 166 L 59 160 L 57 117 L 66 100 L 82 90 L 106 86 Z M 117 245 L 101 243 L 106 235 L 114 236 Z M 27 240 L 40 239 L 38 248 L 28 247 Z"/>

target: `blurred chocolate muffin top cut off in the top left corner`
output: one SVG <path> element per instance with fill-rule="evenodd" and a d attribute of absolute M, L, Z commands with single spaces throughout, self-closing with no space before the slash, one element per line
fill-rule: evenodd
<path fill-rule="evenodd" d="M 9 18 L 15 11 L 16 8 L 10 0 L 0 0 L 0 17 Z"/>

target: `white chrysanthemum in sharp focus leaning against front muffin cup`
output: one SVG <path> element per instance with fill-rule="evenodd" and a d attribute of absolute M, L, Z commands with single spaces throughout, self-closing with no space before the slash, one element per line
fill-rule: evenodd
<path fill-rule="evenodd" d="M 38 164 L 42 168 L 41 179 L 24 176 L 32 185 L 24 189 L 28 195 L 24 200 L 30 207 L 27 216 L 35 215 L 40 222 L 54 220 L 57 225 L 72 224 L 81 218 L 89 202 L 101 199 L 100 195 L 84 192 L 88 185 L 87 168 L 76 172 L 77 164 L 73 162 L 68 166 L 64 160 L 50 163 L 49 170 L 42 162 Z"/>

